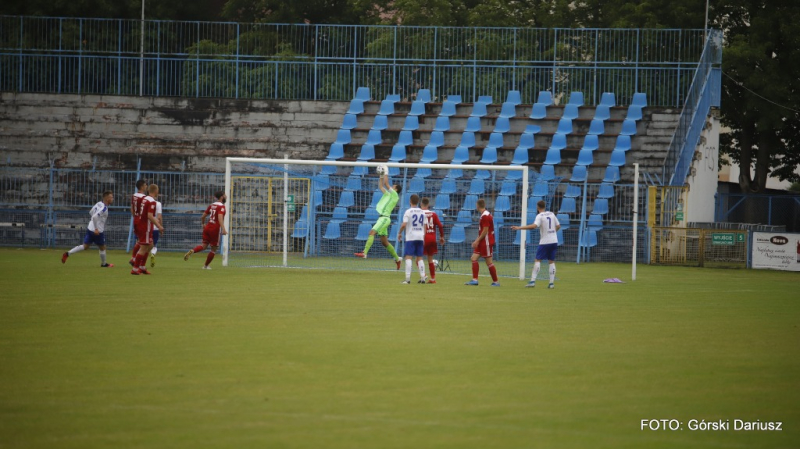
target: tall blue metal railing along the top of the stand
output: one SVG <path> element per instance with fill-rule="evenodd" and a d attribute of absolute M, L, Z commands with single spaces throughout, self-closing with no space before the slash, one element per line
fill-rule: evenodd
<path fill-rule="evenodd" d="M 533 103 L 582 91 L 680 106 L 704 30 L 454 28 L 141 22 L 0 16 L 0 90 L 346 101 L 366 86 L 434 99 Z M 712 35 L 715 35 L 712 33 Z M 140 77 L 140 70 L 143 76 Z"/>

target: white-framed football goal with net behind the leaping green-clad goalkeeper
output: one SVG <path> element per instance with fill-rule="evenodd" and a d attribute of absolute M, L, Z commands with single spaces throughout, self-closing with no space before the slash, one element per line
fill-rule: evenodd
<path fill-rule="evenodd" d="M 375 162 L 227 158 L 225 191 L 228 229 L 223 265 L 337 270 L 396 270 L 392 256 L 375 239 L 367 259 L 361 252 L 378 219 L 382 194 Z M 520 251 L 537 231 L 517 232 L 512 225 L 530 222 L 528 168 L 388 163 L 390 184 L 402 186 L 391 215 L 388 239 L 397 241 L 409 198 L 428 197 L 445 230 L 445 244 L 435 259 L 438 272 L 471 273 L 472 242 L 478 236 L 478 199 L 484 199 L 495 226 L 494 261 L 501 276 L 525 278 Z M 483 264 L 483 262 L 481 262 Z M 482 275 L 487 271 L 481 270 Z"/>

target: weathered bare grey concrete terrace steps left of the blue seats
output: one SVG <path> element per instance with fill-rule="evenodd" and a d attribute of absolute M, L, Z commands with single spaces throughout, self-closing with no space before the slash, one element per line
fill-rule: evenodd
<path fill-rule="evenodd" d="M 224 157 L 322 159 L 346 102 L 0 94 L 0 165 L 224 171 Z"/>

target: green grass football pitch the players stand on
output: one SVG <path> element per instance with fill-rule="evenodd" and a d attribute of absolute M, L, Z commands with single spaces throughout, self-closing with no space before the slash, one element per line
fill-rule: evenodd
<path fill-rule="evenodd" d="M 0 249 L 0 448 L 800 442 L 798 273 L 561 263 L 548 290 L 60 256 Z"/>

